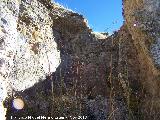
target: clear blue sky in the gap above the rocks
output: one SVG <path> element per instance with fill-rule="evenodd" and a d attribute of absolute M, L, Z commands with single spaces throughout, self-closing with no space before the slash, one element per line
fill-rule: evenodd
<path fill-rule="evenodd" d="M 96 32 L 112 33 L 123 24 L 122 0 L 55 0 L 82 14 Z"/>

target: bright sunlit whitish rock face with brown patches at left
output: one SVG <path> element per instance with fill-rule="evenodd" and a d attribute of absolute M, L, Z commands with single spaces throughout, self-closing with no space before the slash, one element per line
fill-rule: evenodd
<path fill-rule="evenodd" d="M 44 80 L 60 64 L 48 14 L 36 0 L 0 1 L 1 102 L 11 91 L 25 90 Z"/>

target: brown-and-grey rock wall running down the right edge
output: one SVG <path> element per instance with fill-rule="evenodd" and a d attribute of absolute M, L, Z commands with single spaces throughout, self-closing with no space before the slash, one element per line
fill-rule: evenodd
<path fill-rule="evenodd" d="M 160 119 L 157 118 L 159 116 L 157 111 L 160 109 L 160 1 L 124 0 L 123 2 L 127 27 L 139 54 L 141 82 L 148 93 L 144 106 L 146 109 L 150 109 L 149 104 L 152 106 L 152 112 L 147 110 L 144 112 L 149 113 L 150 119 L 151 116 Z"/>

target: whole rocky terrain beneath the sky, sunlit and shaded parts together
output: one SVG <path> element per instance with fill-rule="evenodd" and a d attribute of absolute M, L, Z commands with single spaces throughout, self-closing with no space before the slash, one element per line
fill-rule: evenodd
<path fill-rule="evenodd" d="M 1 1 L 0 117 L 159 120 L 159 1 L 123 4 L 106 36 L 50 0 Z"/>

